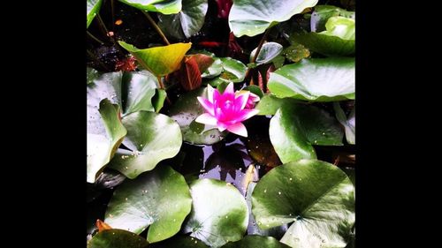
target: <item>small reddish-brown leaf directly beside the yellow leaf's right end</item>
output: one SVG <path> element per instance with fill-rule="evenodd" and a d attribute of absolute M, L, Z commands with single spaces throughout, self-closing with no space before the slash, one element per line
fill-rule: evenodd
<path fill-rule="evenodd" d="M 184 58 L 184 63 L 179 69 L 179 83 L 187 91 L 201 86 L 201 72 L 194 56 Z"/>

